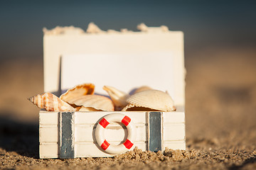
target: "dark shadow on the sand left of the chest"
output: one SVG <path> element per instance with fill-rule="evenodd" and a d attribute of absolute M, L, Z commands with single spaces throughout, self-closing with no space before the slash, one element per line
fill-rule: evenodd
<path fill-rule="evenodd" d="M 4 112 L 8 115 L 8 112 Z M 18 115 L 18 114 L 16 114 Z M 38 158 L 38 123 L 23 123 L 0 113 L 0 147 L 26 157 Z"/>

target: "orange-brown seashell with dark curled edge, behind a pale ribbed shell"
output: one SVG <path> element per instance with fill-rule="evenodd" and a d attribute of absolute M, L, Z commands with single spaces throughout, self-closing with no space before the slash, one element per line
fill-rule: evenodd
<path fill-rule="evenodd" d="M 65 94 L 60 96 L 60 99 L 70 103 L 69 101 L 73 100 L 74 98 L 79 98 L 80 96 L 85 96 L 87 94 L 94 94 L 94 90 L 94 84 L 80 84 L 66 91 Z"/>

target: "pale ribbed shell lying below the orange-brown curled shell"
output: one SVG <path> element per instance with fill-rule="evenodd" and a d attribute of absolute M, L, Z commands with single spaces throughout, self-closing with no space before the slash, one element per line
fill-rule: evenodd
<path fill-rule="evenodd" d="M 105 96 L 88 94 L 78 98 L 72 98 L 68 103 L 85 108 L 95 108 L 100 111 L 114 111 L 114 103 Z"/>

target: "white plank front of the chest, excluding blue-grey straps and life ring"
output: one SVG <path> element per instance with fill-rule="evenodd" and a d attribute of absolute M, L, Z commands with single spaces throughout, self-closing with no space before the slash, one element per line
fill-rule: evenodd
<path fill-rule="evenodd" d="M 76 112 L 74 113 L 74 157 L 112 157 L 103 151 L 95 140 L 95 128 L 105 115 L 117 112 Z M 136 127 L 134 147 L 148 150 L 148 113 L 118 112 L 129 116 Z M 186 149 L 185 123 L 183 112 L 162 113 L 163 147 Z M 40 112 L 39 141 L 41 158 L 58 158 L 59 155 L 59 120 L 56 112 Z M 112 145 L 119 145 L 127 137 L 127 128 L 122 123 L 110 123 L 105 129 L 105 139 Z"/>

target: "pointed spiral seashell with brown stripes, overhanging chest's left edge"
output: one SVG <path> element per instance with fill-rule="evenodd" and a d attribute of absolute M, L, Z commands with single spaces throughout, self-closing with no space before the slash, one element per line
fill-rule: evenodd
<path fill-rule="evenodd" d="M 75 108 L 50 93 L 38 94 L 28 98 L 28 101 L 31 101 L 38 108 L 45 108 L 46 111 L 75 111 Z"/>

